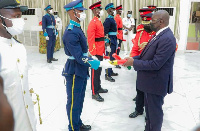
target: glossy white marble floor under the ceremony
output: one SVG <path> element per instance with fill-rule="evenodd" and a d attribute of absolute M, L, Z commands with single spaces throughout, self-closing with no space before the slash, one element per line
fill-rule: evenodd
<path fill-rule="evenodd" d="M 26 47 L 29 65 L 30 88 L 40 95 L 43 124 L 38 131 L 67 131 L 65 111 L 66 89 L 61 72 L 67 59 L 63 49 L 55 53 L 58 62 L 47 64 L 46 55 L 39 54 L 37 47 Z M 123 54 L 123 52 L 121 53 Z M 109 90 L 102 94 L 105 102 L 91 99 L 90 80 L 82 120 L 92 125 L 92 131 L 143 131 L 144 116 L 130 119 L 134 111 L 132 99 L 136 95 L 136 72 L 126 68 L 114 69 L 119 73 L 115 83 L 105 81 L 102 71 L 102 87 Z M 199 123 L 200 112 L 200 53 L 177 53 L 174 65 L 174 92 L 165 97 L 162 131 L 189 131 Z M 38 113 L 37 105 L 35 106 Z M 37 115 L 38 118 L 38 115 Z"/>

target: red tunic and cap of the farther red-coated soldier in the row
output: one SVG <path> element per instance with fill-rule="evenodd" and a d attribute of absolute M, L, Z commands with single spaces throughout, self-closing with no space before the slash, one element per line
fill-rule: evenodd
<path fill-rule="evenodd" d="M 116 10 L 122 10 L 122 5 L 117 6 Z M 117 39 L 118 39 L 117 55 L 119 55 L 121 44 L 123 41 L 123 22 L 122 22 L 122 18 L 119 14 L 117 14 L 115 16 L 115 21 L 117 23 Z"/>

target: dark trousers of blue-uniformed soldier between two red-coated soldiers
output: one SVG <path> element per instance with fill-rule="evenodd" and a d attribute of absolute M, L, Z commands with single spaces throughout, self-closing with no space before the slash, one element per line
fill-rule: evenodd
<path fill-rule="evenodd" d="M 107 51 L 106 51 L 106 56 L 110 56 L 110 60 L 115 60 L 115 58 L 112 57 L 112 55 L 113 55 L 114 53 L 116 53 L 116 47 L 117 47 L 116 45 L 111 44 L 111 45 L 110 45 L 111 52 L 107 52 Z M 109 77 L 110 77 L 112 73 L 113 73 L 112 68 L 106 69 L 106 76 L 109 76 Z"/>

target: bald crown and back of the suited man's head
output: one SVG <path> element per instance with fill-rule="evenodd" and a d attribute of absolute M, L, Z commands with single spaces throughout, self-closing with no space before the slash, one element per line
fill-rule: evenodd
<path fill-rule="evenodd" d="M 155 12 L 153 16 L 161 19 L 163 21 L 164 26 L 169 25 L 169 13 L 166 10 L 159 10 Z"/>

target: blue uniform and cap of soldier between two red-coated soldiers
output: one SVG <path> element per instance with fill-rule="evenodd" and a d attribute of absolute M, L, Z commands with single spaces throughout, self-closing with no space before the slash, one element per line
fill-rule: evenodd
<path fill-rule="evenodd" d="M 108 4 L 105 7 L 105 10 L 108 10 L 110 8 L 114 8 L 113 3 Z M 110 56 L 110 60 L 115 60 L 115 58 L 112 57 L 113 53 L 116 53 L 116 49 L 118 48 L 117 46 L 117 24 L 116 21 L 114 19 L 113 16 L 108 15 L 108 17 L 105 19 L 104 23 L 104 34 L 108 35 L 108 37 L 110 38 L 110 48 L 111 48 L 111 52 L 106 52 L 107 56 Z M 113 73 L 112 68 L 108 68 L 106 70 L 106 76 L 111 76 L 111 74 Z"/>

